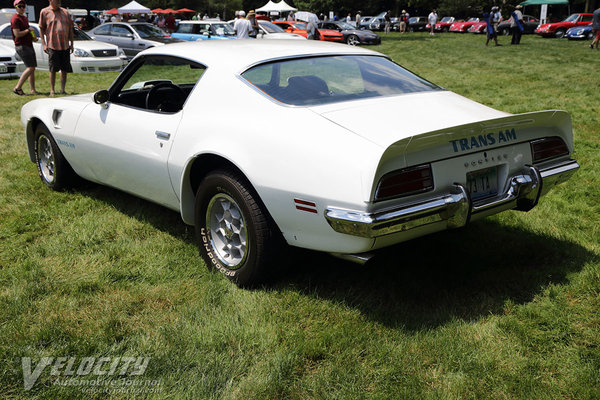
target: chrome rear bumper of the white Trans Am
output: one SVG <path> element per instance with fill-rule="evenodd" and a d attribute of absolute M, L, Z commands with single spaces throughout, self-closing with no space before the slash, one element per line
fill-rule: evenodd
<path fill-rule="evenodd" d="M 459 228 L 469 222 L 472 214 L 498 208 L 531 210 L 542 195 L 568 180 L 578 168 L 575 160 L 542 170 L 527 166 L 520 174 L 509 177 L 503 194 L 491 199 L 472 201 L 467 189 L 456 183 L 441 196 L 375 213 L 328 207 L 325 218 L 336 232 L 364 238 L 376 238 L 444 221 L 447 228 Z"/>

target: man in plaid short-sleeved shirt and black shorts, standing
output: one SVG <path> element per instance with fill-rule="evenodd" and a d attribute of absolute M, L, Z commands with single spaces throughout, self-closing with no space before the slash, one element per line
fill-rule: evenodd
<path fill-rule="evenodd" d="M 40 36 L 44 51 L 48 53 L 50 70 L 50 96 L 54 96 L 56 72 L 60 71 L 60 93 L 66 94 L 67 73 L 73 72 L 73 19 L 60 6 L 60 0 L 49 0 L 50 5 L 40 12 Z"/>

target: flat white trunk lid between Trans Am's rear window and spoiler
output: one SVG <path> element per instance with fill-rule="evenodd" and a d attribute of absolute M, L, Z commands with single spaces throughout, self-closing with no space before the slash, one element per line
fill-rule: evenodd
<path fill-rule="evenodd" d="M 424 132 L 510 115 L 449 91 L 378 97 L 312 110 L 382 147 Z"/>

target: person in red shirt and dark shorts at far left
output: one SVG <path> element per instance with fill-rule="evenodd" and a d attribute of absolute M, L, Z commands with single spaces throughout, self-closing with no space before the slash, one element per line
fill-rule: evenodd
<path fill-rule="evenodd" d="M 29 26 L 29 20 L 25 15 L 25 0 L 15 0 L 14 6 L 17 9 L 17 13 L 13 15 L 10 20 L 10 28 L 12 31 L 13 40 L 15 42 L 15 50 L 23 64 L 25 64 L 25 71 L 21 74 L 17 86 L 13 89 L 13 93 L 19 96 L 23 96 L 23 84 L 29 79 L 29 89 L 31 94 L 38 94 L 35 90 L 35 67 L 37 67 L 37 60 L 35 59 L 35 51 L 33 50 L 33 41 L 37 42 L 34 30 Z"/>

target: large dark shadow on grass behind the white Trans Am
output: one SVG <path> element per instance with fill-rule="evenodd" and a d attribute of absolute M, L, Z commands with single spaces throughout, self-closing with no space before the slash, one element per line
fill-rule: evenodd
<path fill-rule="evenodd" d="M 294 251 L 276 287 L 341 302 L 409 331 L 502 314 L 597 261 L 582 246 L 495 221 L 381 250 L 366 265 Z"/>

